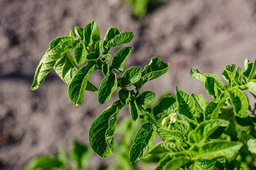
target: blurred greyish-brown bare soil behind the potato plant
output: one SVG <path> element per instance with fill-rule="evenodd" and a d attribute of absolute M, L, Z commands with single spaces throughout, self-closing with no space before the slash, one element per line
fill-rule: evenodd
<path fill-rule="evenodd" d="M 35 69 L 55 37 L 67 29 L 96 20 L 102 38 L 110 26 L 134 31 L 134 50 L 125 63 L 144 67 L 151 57 L 170 62 L 164 76 L 146 83 L 143 90 L 160 97 L 175 86 L 190 94 L 210 97 L 203 84 L 189 77 L 189 69 L 216 73 L 222 80 L 225 65 L 243 68 L 244 59 L 256 58 L 256 0 L 163 0 L 146 17 L 136 19 L 119 0 L 0 0 L 0 169 L 20 170 L 29 159 L 69 149 L 73 139 L 88 144 L 88 130 L 111 102 L 99 105 L 85 92 L 76 107 L 67 85 L 52 71 L 43 85 L 29 91 Z M 113 48 L 114 54 L 122 46 Z M 101 73 L 90 79 L 99 86 Z M 253 98 L 250 98 L 254 100 Z M 255 102 L 255 101 L 253 101 Z M 129 115 L 125 107 L 119 115 Z M 90 167 L 111 162 L 93 156 Z"/>

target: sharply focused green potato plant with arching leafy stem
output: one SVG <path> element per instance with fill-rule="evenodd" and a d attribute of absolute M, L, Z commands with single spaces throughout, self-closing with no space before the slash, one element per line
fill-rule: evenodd
<path fill-rule="evenodd" d="M 68 31 L 69 36 L 50 42 L 30 90 L 39 88 L 52 68 L 67 83 L 70 101 L 76 105 L 84 102 L 84 91 L 96 92 L 99 104 L 103 104 L 119 87 L 119 100 L 100 113 L 89 130 L 90 146 L 102 159 L 113 156 L 116 120 L 119 111 L 129 105 L 132 120 L 138 117 L 147 120 L 140 125 L 131 145 L 131 164 L 160 155 L 162 159 L 156 170 L 246 170 L 255 167 L 256 108 L 250 107 L 244 91 L 256 98 L 256 60 L 251 63 L 245 59 L 244 71 L 234 64 L 227 65 L 221 74 L 227 85 L 218 81 L 216 74 L 191 69 L 190 76 L 203 82 L 213 101 L 206 102 L 202 94 L 190 95 L 176 87 L 176 96 L 164 96 L 151 109 L 148 105 L 155 99 L 154 92 L 140 89 L 146 82 L 165 74 L 169 64 L 153 57 L 144 69 L 125 70 L 124 62 L 133 48 L 123 47 L 113 57 L 108 52 L 112 47 L 130 42 L 134 37 L 131 31 L 119 32 L 112 26 L 101 40 L 95 21 L 84 28 L 76 26 L 76 37 Z M 97 70 L 105 76 L 99 88 L 88 81 L 90 74 Z M 124 74 L 117 77 L 116 72 Z M 134 90 L 128 90 L 129 86 L 134 86 Z M 156 133 L 163 142 L 154 145 Z"/>

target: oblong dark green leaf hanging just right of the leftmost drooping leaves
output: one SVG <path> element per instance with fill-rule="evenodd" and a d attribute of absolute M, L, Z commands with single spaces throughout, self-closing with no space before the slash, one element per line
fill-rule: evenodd
<path fill-rule="evenodd" d="M 68 96 L 70 101 L 81 105 L 84 102 L 84 91 L 90 74 L 94 71 L 96 62 L 88 61 L 86 65 L 79 68 L 68 86 Z"/>

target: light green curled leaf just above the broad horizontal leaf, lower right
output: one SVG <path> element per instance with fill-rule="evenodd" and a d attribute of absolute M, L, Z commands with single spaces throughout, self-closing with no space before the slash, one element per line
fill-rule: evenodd
<path fill-rule="evenodd" d="M 201 122 L 195 130 L 189 132 L 190 143 L 204 143 L 219 126 L 227 127 L 229 122 L 224 119 L 212 119 Z"/>

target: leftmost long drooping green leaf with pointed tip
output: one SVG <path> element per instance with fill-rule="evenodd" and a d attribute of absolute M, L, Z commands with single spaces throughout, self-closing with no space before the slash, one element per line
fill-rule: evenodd
<path fill-rule="evenodd" d="M 67 37 L 70 37 L 70 36 L 67 36 Z M 55 43 L 53 44 L 55 45 Z M 49 49 L 44 54 L 41 61 L 39 62 L 39 65 L 35 71 L 34 81 L 30 90 L 34 91 L 38 89 L 41 86 L 41 84 L 44 82 L 45 77 L 47 77 L 48 73 L 52 70 L 56 61 L 59 58 L 61 58 L 64 53 L 66 53 L 67 51 L 70 51 L 74 47 L 75 47 L 75 42 L 73 37 L 73 39 L 66 40 L 61 44 L 58 44 L 54 48 Z M 51 48 L 51 44 L 50 44 L 50 48 Z"/>

